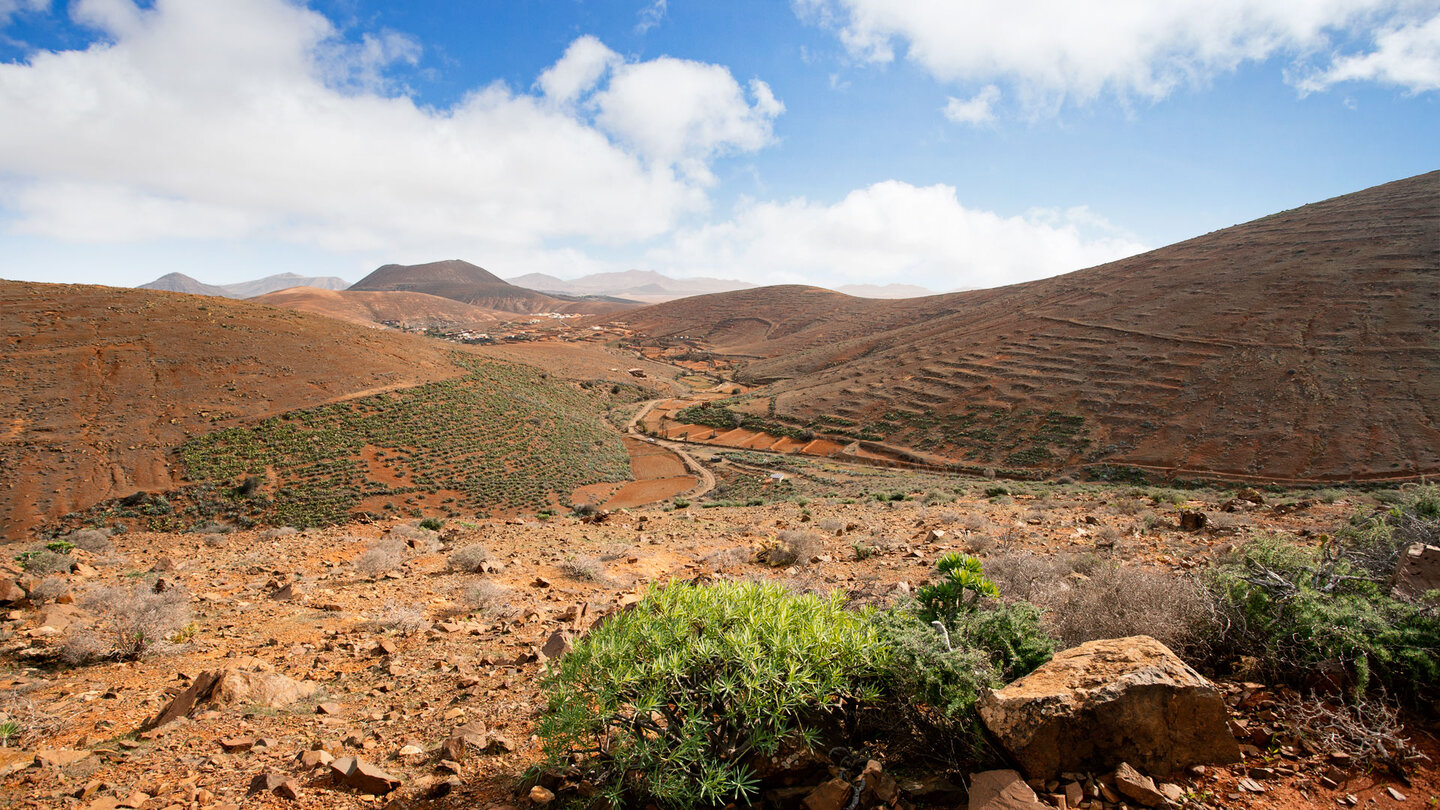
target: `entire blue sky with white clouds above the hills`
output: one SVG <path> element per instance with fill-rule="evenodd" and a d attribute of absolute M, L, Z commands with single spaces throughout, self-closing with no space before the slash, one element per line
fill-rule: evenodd
<path fill-rule="evenodd" d="M 0 0 L 0 277 L 985 287 L 1440 167 L 1440 0 Z"/>

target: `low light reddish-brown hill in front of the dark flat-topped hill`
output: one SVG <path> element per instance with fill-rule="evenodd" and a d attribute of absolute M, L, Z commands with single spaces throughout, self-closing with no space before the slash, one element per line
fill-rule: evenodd
<path fill-rule="evenodd" d="M 488 329 L 501 320 L 514 317 L 514 313 L 484 310 L 425 293 L 359 293 L 292 287 L 252 300 L 258 304 L 315 313 L 364 326 L 399 323 L 403 326 Z"/>

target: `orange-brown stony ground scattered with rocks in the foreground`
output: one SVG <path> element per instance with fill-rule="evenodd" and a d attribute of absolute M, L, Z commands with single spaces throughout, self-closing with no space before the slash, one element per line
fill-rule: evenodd
<path fill-rule="evenodd" d="M 740 486 L 740 473 L 727 476 L 721 483 Z M 857 476 L 906 489 L 904 476 Z M 526 806 L 528 794 L 517 788 L 539 757 L 537 683 L 547 653 L 563 649 L 547 643 L 562 630 L 583 631 L 655 582 L 765 577 L 884 601 L 926 581 L 936 558 L 956 549 L 988 564 L 1032 552 L 1181 577 L 1254 532 L 1318 538 L 1367 504 L 1354 493 L 1269 496 L 1223 512 L 1228 494 L 1220 491 L 1176 503 L 1185 496 L 1035 484 L 988 496 L 994 481 L 949 484 L 946 491 L 909 489 L 912 500 L 884 503 L 845 503 L 852 497 L 837 493 L 763 506 L 622 510 L 600 523 L 575 516 L 452 520 L 438 535 L 406 523 L 115 535 L 91 543 L 92 551 L 72 551 L 79 565 L 40 587 L 48 598 L 7 595 L 17 601 L 0 630 L 0 708 L 13 724 L 0 748 L 0 804 Z M 1181 530 L 1182 509 L 1211 519 L 1201 530 Z M 806 556 L 785 568 L 756 562 L 755 552 L 785 532 L 811 538 Z M 469 546 L 487 553 L 456 555 Z M 456 571 L 458 561 L 475 571 Z M 24 591 L 40 585 L 17 565 L 4 577 Z M 104 610 L 86 594 L 107 585 L 189 592 L 193 624 L 137 662 L 63 663 L 59 650 L 73 649 Z M 228 675 L 189 716 L 148 728 L 176 695 L 206 686 L 206 673 Z M 1405 784 L 1336 751 L 1299 745 L 1279 713 L 1292 693 L 1220 675 L 1246 758 L 1172 778 L 1182 801 L 1440 803 L 1433 761 Z M 1440 757 L 1434 731 L 1418 722 L 1407 729 L 1433 760 Z M 456 735 L 461 744 L 449 742 Z M 333 760 L 351 773 L 348 780 L 333 777 Z M 900 778 L 903 804 L 963 804 L 959 793 L 926 794 L 920 785 L 958 785 L 968 774 L 901 761 L 884 768 Z M 246 796 L 258 777 L 268 790 Z M 367 793 L 390 787 L 390 778 L 396 790 Z M 1104 793 L 1113 784 L 1077 781 L 1094 794 L 1083 801 L 1099 807 L 1128 801 Z M 1035 787 L 1058 801 L 1068 785 Z"/>

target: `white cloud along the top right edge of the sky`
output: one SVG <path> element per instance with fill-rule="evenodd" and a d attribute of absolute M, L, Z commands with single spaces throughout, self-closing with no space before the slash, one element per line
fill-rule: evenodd
<path fill-rule="evenodd" d="M 802 17 L 837 30 L 855 58 L 897 50 L 943 81 L 1007 81 L 1032 110 L 1102 94 L 1159 99 L 1244 62 L 1309 59 L 1333 40 L 1416 22 L 1433 0 L 793 0 Z M 1354 78 L 1408 76 L 1427 53 L 1397 42 L 1395 59 L 1355 66 Z M 1394 65 L 1394 66 L 1392 66 Z M 1336 65 L 1341 66 L 1341 65 Z M 1417 81 L 1398 79 L 1417 86 Z M 1424 86 L 1424 76 L 1418 86 Z"/>

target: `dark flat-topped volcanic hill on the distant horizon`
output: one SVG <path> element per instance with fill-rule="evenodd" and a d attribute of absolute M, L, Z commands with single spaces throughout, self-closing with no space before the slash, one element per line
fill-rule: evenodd
<path fill-rule="evenodd" d="M 602 314 L 634 308 L 634 304 L 559 298 L 516 287 L 485 268 L 461 259 L 428 264 L 387 264 L 361 278 L 354 293 L 400 291 L 439 295 L 464 304 L 510 313 Z"/>

